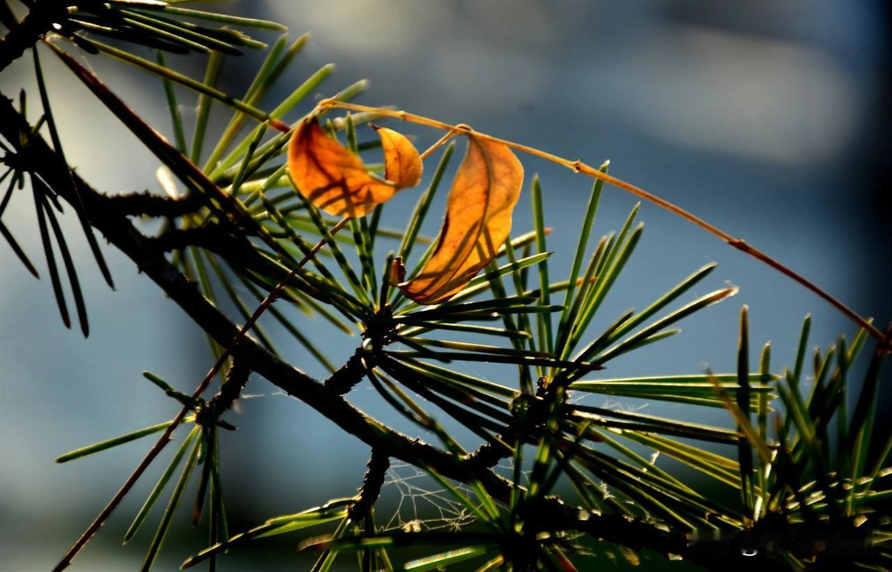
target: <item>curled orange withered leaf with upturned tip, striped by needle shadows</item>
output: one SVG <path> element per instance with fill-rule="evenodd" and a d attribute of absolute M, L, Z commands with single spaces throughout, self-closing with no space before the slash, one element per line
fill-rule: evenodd
<path fill-rule="evenodd" d="M 361 217 L 401 188 L 415 187 L 422 172 L 415 145 L 392 129 L 376 130 L 384 149 L 384 179 L 328 137 L 317 117 L 302 120 L 288 145 L 288 172 L 301 195 L 328 214 Z"/>

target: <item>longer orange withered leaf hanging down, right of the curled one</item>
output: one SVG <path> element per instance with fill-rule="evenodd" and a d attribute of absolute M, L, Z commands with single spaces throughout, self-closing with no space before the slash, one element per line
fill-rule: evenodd
<path fill-rule="evenodd" d="M 508 238 L 523 182 L 524 167 L 506 145 L 468 135 L 434 253 L 409 282 L 402 282 L 406 269 L 396 261 L 392 281 L 417 303 L 442 303 L 457 294 Z"/>

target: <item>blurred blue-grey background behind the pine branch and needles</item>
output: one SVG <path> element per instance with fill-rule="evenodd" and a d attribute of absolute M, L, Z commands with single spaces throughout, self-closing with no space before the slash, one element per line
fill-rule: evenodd
<path fill-rule="evenodd" d="M 467 122 L 594 164 L 610 159 L 616 176 L 746 238 L 856 311 L 876 317 L 880 326 L 892 318 L 892 51 L 885 3 L 254 0 L 223 4 L 222 10 L 281 21 L 292 37 L 308 30 L 313 34 L 273 90 L 268 107 L 320 65 L 335 62 L 335 75 L 317 95 L 368 78 L 371 88 L 360 97 L 362 103 L 396 104 Z M 81 55 L 169 135 L 160 80 L 120 62 Z M 243 92 L 262 57 L 229 58 L 219 86 Z M 28 62 L 24 58 L 0 75 L 4 95 L 24 87 L 37 100 Z M 204 62 L 194 56 L 175 58 L 173 64 L 200 78 Z M 52 57 L 45 57 L 45 67 L 66 153 L 78 173 L 108 192 L 157 191 L 153 157 Z M 190 121 L 194 99 L 181 95 L 182 112 Z M 297 112 L 308 111 L 311 104 Z M 214 117 L 224 120 L 227 112 L 216 109 Z M 407 130 L 423 142 L 435 137 Z M 549 236 L 549 249 L 556 251 L 551 276 L 566 276 L 590 181 L 522 159 L 528 174 L 541 175 L 546 223 L 555 228 Z M 432 212 L 442 211 L 444 196 Z M 404 226 L 416 198 L 417 191 L 399 195 L 388 206 L 385 223 Z M 521 200 L 518 232 L 532 221 L 528 191 Z M 631 196 L 607 188 L 597 236 L 618 228 L 634 203 Z M 709 261 L 718 261 L 718 269 L 683 301 L 726 282 L 739 286 L 740 294 L 682 322 L 681 336 L 615 361 L 611 377 L 693 373 L 707 365 L 732 370 L 743 303 L 751 310 L 752 343 L 773 342 L 776 369 L 792 360 L 808 312 L 814 314 L 814 344 L 826 346 L 840 333 L 854 333 L 851 323 L 814 295 L 698 228 L 649 204 L 642 205 L 640 219 L 646 230 L 638 251 L 593 332 L 629 307 L 642 308 Z M 4 222 L 45 274 L 27 194 L 13 198 Z M 150 369 L 191 390 L 212 362 L 202 332 L 111 247 L 104 252 L 118 288 L 109 291 L 75 221 L 66 222 L 92 322 L 87 340 L 62 327 L 48 280 L 31 278 L 7 247 L 0 249 L 3 570 L 50 568 L 149 443 L 66 465 L 54 464 L 56 456 L 172 417 L 174 404 L 145 383 L 141 371 Z M 429 217 L 425 233 L 434 236 L 438 223 L 436 215 Z M 379 256 L 386 252 L 379 250 Z M 303 323 L 336 363 L 357 344 L 321 322 Z M 325 376 L 301 347 L 273 332 L 293 363 Z M 504 370 L 467 366 L 467 371 L 496 378 Z M 223 435 L 234 530 L 353 493 L 368 459 L 365 445 L 300 402 L 275 394 L 259 377 L 252 378 L 248 392 L 252 399 L 243 400 L 233 417 L 240 430 Z M 360 385 L 350 399 L 393 427 L 421 435 L 368 385 Z M 596 405 L 606 401 L 588 399 Z M 881 406 L 888 406 L 888 394 Z M 689 414 L 683 406 L 660 403 L 648 404 L 647 410 Z M 728 422 L 722 411 L 710 416 L 699 419 Z M 78 557 L 77 569 L 138 566 L 158 513 L 132 543 L 121 547 L 120 538 L 162 468 L 158 463 L 136 486 Z M 192 496 L 190 491 L 186 500 Z M 388 502 L 399 496 L 392 486 Z M 406 511 L 401 518 L 413 518 Z M 175 523 L 157 569 L 174 569 L 203 546 L 203 533 L 191 529 L 186 512 Z M 270 569 L 305 568 L 308 560 L 293 551 L 296 542 L 296 536 L 286 537 L 235 551 L 220 561 L 220 568 L 253 569 L 261 562 Z M 352 561 L 344 558 L 340 564 Z"/>

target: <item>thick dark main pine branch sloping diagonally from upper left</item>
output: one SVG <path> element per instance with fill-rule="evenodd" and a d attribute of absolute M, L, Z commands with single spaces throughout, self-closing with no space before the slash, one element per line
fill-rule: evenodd
<path fill-rule="evenodd" d="M 12 101 L 0 96 L 0 135 L 7 139 L 18 137 L 21 131 L 30 129 Z M 60 167 L 54 152 L 41 137 L 35 137 L 29 154 L 29 170 L 39 172 L 52 187 L 61 189 L 62 197 L 71 202 L 69 186 L 63 184 L 69 177 L 68 170 Z M 126 216 L 114 214 L 105 207 L 113 200 L 87 185 L 77 173 L 71 175 L 84 201 L 85 208 L 96 229 L 125 253 L 136 266 L 152 278 L 161 289 L 177 303 L 194 322 L 219 344 L 226 346 L 235 339 L 239 327 L 205 298 L 194 283 L 184 277 L 157 248 L 157 239 L 142 235 Z M 327 419 L 354 435 L 376 451 L 388 457 L 404 460 L 414 465 L 427 465 L 442 476 L 467 483 L 479 479 L 487 492 L 500 502 L 508 503 L 512 484 L 491 470 L 476 463 L 468 463 L 442 449 L 425 444 L 417 438 L 403 435 L 381 421 L 368 417 L 339 394 L 305 374 L 293 365 L 268 352 L 251 336 L 244 336 L 232 351 L 235 361 L 244 364 L 277 385 L 285 393 L 305 402 Z M 359 375 L 365 369 L 353 368 Z M 359 378 L 356 379 L 359 381 Z M 632 549 L 648 548 L 664 554 L 690 554 L 687 537 L 677 532 L 665 531 L 647 522 L 632 520 L 622 515 L 596 515 L 558 499 L 542 502 L 535 526 L 543 530 L 576 529 L 597 538 L 620 543 Z"/>

